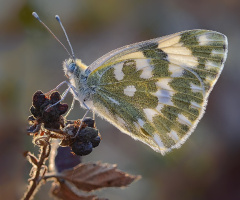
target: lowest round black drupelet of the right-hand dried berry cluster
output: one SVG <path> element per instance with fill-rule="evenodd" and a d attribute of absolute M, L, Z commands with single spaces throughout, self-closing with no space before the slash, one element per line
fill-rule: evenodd
<path fill-rule="evenodd" d="M 92 152 L 92 143 L 91 142 L 79 142 L 76 140 L 72 145 L 72 151 L 79 156 L 85 156 Z"/>

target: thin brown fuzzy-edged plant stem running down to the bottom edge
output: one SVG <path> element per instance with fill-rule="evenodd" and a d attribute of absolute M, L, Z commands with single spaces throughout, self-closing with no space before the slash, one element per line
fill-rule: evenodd
<path fill-rule="evenodd" d="M 37 165 L 33 165 L 31 171 L 35 170 L 33 177 L 29 181 L 29 186 L 27 191 L 24 194 L 22 200 L 29 200 L 33 199 L 36 189 L 39 186 L 40 182 L 43 180 L 44 174 L 46 172 L 46 166 L 44 165 L 45 161 L 47 160 L 49 153 L 50 153 L 50 144 L 49 144 L 50 137 L 44 138 L 44 144 L 41 145 L 41 151 L 38 159 Z M 43 167 L 45 167 L 43 173 L 41 173 Z M 36 169 L 35 169 L 36 168 Z"/>

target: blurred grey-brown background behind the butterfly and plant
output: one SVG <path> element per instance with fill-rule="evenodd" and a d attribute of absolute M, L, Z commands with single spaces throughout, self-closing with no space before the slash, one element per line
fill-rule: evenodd
<path fill-rule="evenodd" d="M 75 55 L 87 65 L 118 47 L 187 29 L 210 29 L 229 39 L 225 68 L 206 114 L 177 150 L 161 156 L 97 118 L 100 146 L 83 162 L 102 161 L 142 179 L 125 189 L 98 192 L 111 200 L 240 199 L 240 1 L 239 0 L 0 0 L 0 196 L 20 199 L 30 164 L 22 152 L 37 153 L 27 136 L 36 90 L 66 80 L 65 50 L 32 17 L 36 11 L 67 44 L 55 20 L 60 15 Z M 68 96 L 66 102 L 70 104 Z M 81 118 L 77 105 L 69 116 Z M 51 199 L 45 185 L 35 199 Z"/>

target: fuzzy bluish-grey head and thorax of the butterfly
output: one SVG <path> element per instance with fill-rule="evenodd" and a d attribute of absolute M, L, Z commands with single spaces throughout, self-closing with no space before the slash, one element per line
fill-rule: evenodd
<path fill-rule="evenodd" d="M 85 103 L 88 107 L 91 107 L 91 96 L 93 90 L 87 85 L 88 75 L 85 73 L 87 66 L 81 62 L 81 60 L 73 59 L 65 60 L 63 63 L 63 70 L 68 77 L 71 85 L 75 88 L 75 91 L 71 90 L 74 98 L 81 103 L 81 106 L 85 107 Z"/>

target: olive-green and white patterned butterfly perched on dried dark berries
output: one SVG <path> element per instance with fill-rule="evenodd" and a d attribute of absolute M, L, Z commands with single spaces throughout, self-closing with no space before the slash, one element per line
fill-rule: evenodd
<path fill-rule="evenodd" d="M 164 155 L 202 118 L 227 49 L 225 35 L 199 29 L 124 46 L 90 66 L 72 51 L 63 64 L 69 82 L 61 84 L 64 95 L 71 91 L 83 108 Z"/>

